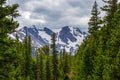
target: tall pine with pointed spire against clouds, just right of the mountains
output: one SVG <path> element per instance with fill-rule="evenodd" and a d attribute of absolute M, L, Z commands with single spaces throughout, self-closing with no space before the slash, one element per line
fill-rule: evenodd
<path fill-rule="evenodd" d="M 79 48 L 78 55 L 80 58 L 77 58 L 81 64 L 78 65 L 77 73 L 78 76 L 75 79 L 83 79 L 83 80 L 93 80 L 93 73 L 94 73 L 94 62 L 95 57 L 97 55 L 97 39 L 99 38 L 98 32 L 100 30 L 101 19 L 99 17 L 100 12 L 98 11 L 97 2 L 94 2 L 92 11 L 91 11 L 91 19 L 89 21 L 89 33 L 90 35 L 87 36 L 84 43 Z"/>

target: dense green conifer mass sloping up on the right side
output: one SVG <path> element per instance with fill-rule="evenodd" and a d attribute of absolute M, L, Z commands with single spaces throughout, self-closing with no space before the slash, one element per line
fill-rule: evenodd
<path fill-rule="evenodd" d="M 105 16 L 95 1 L 89 21 L 89 35 L 79 47 L 74 61 L 75 80 L 120 79 L 120 3 L 103 0 Z"/>

